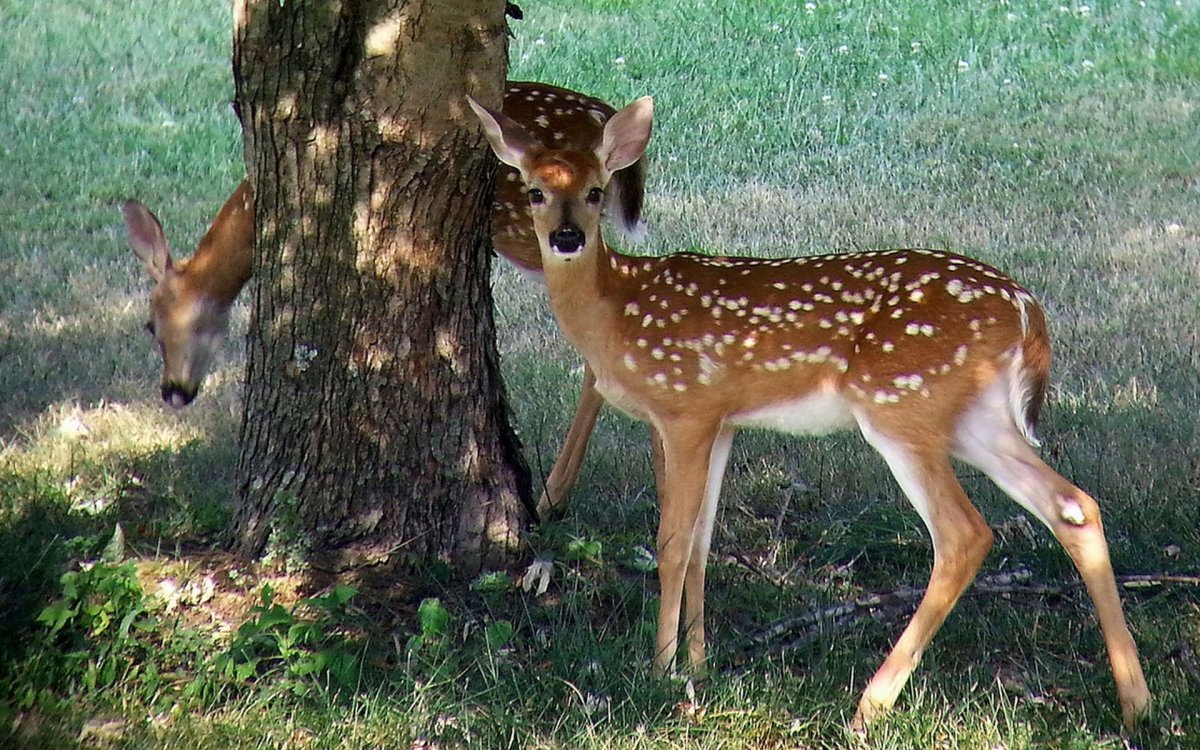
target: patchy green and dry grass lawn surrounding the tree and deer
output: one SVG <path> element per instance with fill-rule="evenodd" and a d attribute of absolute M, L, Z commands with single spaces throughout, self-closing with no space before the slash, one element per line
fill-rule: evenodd
<path fill-rule="evenodd" d="M 1056 344 L 1044 455 L 1100 499 L 1118 572 L 1198 572 L 1200 5 L 556 0 L 524 11 L 511 78 L 614 103 L 655 97 L 638 252 L 952 247 L 1031 287 Z M 850 744 L 857 691 L 898 622 L 773 643 L 740 662 L 746 636 L 779 618 L 928 576 L 916 515 L 845 436 L 739 438 L 709 576 L 718 672 L 695 698 L 646 674 L 649 455 L 644 428 L 608 410 L 566 516 L 532 538 L 559 563 L 547 595 L 504 578 L 464 589 L 437 569 L 364 580 L 354 607 L 301 649 L 361 648 L 353 685 L 280 668 L 220 674 L 216 658 L 263 582 L 308 593 L 323 582 L 211 548 L 229 514 L 245 310 L 204 396 L 163 410 L 140 331 L 149 284 L 116 204 L 145 202 L 186 253 L 240 179 L 228 12 L 14 0 L 0 22 L 0 719 L 11 743 L 90 746 L 108 732 L 126 748 Z M 516 420 L 544 475 L 578 362 L 541 290 L 508 268 L 494 286 Z M 978 475 L 965 485 L 1000 529 L 985 572 L 1025 565 L 1038 581 L 1075 580 L 1007 498 Z M 96 559 L 116 523 L 145 592 L 144 611 L 112 613 L 130 618 L 132 640 L 80 628 L 70 648 L 62 634 L 48 641 L 34 620 L 64 596 L 59 576 Z M 166 611 L 163 581 L 206 577 L 216 595 Z M 1200 594 L 1127 592 L 1157 708 L 1124 738 L 1086 598 L 1064 592 L 966 598 L 866 746 L 1200 742 Z M 449 614 L 440 629 L 416 608 L 428 598 Z M 307 623 L 305 612 L 293 617 Z M 106 660 L 125 671 L 101 686 Z M 61 679 L 44 684 L 38 670 Z"/>

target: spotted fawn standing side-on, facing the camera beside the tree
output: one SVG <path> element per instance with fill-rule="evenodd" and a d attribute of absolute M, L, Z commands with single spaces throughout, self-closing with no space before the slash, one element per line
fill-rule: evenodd
<path fill-rule="evenodd" d="M 684 594 L 689 661 L 704 660 L 704 566 L 734 431 L 857 427 L 934 541 L 929 587 L 868 683 L 857 726 L 894 704 L 991 547 L 950 456 L 983 470 L 1062 542 L 1096 604 L 1126 724 L 1146 710 L 1099 509 L 1031 449 L 1050 341 L 1028 292 L 977 260 L 920 250 L 623 256 L 601 236 L 600 209 L 611 175 L 642 158 L 649 97 L 613 115 L 593 154 L 546 148 L 470 104 L 526 184 L 559 328 L 596 390 L 661 438 L 656 673 L 672 667 Z"/>

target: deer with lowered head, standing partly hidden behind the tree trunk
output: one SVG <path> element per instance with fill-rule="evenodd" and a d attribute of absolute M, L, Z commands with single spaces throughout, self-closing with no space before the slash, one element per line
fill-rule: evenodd
<path fill-rule="evenodd" d="M 504 112 L 546 144 L 590 152 L 616 112 L 607 103 L 542 83 L 510 82 Z M 641 233 L 644 164 L 635 161 L 613 175 L 605 208 L 630 236 Z M 157 217 L 137 200 L 121 206 L 133 252 L 155 281 L 150 322 L 162 352 L 162 398 L 174 408 L 196 398 L 229 330 L 229 308 L 250 280 L 254 241 L 253 193 L 248 181 L 233 192 L 188 260 L 174 260 Z M 541 252 L 516 170 L 497 173 L 492 244 L 500 257 L 539 281 Z M 540 514 L 560 505 L 575 484 L 602 400 L 584 368 L 580 403 L 563 449 L 546 479 Z"/>

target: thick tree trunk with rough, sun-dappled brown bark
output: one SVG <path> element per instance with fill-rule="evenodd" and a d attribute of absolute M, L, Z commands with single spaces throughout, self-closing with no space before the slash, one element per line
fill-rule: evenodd
<path fill-rule="evenodd" d="M 257 252 L 240 551 L 514 562 L 529 473 L 488 281 L 503 0 L 236 0 Z"/>

